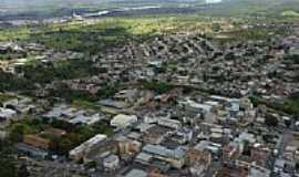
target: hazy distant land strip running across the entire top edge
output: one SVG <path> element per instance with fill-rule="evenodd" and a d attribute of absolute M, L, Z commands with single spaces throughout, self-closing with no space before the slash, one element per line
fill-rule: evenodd
<path fill-rule="evenodd" d="M 6 15 L 65 15 L 76 11 L 100 11 L 116 8 L 161 6 L 183 12 L 207 15 L 241 15 L 266 12 L 281 14 L 299 11 L 299 0 L 0 0 L 0 18 Z M 214 3 L 220 2 L 221 3 Z M 206 2 L 210 6 L 203 7 Z M 168 10 L 168 9 L 167 9 Z M 155 12 L 155 11 L 154 11 Z M 163 13 L 163 10 L 159 11 Z M 174 10 L 174 12 L 176 12 Z M 178 10 L 177 12 L 182 12 Z"/>

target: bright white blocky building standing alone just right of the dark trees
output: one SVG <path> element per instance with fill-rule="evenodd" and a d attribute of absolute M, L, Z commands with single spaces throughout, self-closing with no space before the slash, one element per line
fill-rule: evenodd
<path fill-rule="evenodd" d="M 117 128 L 123 128 L 127 127 L 134 123 L 137 123 L 138 118 L 136 115 L 124 115 L 124 114 L 118 114 L 110 122 L 111 126 L 117 127 Z"/>

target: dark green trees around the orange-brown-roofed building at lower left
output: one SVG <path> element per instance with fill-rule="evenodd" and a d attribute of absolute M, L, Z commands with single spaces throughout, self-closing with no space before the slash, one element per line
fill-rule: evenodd
<path fill-rule="evenodd" d="M 51 149 L 59 154 L 68 154 L 69 150 L 79 146 L 96 134 L 105 134 L 107 136 L 113 134 L 113 129 L 107 123 L 104 122 L 97 122 L 92 126 L 87 126 L 81 124 L 73 125 L 60 119 L 54 119 L 49 123 L 48 121 L 43 121 L 41 118 L 24 117 L 22 121 L 19 121 L 9 127 L 10 140 L 22 142 L 24 135 L 39 134 L 50 127 L 66 131 L 66 134 L 62 137 L 44 137 L 51 140 Z"/>

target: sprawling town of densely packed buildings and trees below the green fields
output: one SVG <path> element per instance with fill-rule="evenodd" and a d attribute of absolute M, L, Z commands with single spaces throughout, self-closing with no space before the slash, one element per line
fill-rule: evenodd
<path fill-rule="evenodd" d="M 0 176 L 299 177 L 299 19 L 200 24 L 89 53 L 0 40 Z"/>

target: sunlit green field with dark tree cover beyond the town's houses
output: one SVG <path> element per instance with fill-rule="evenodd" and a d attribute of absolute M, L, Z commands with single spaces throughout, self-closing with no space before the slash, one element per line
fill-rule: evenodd
<path fill-rule="evenodd" d="M 49 48 L 96 53 L 127 41 L 177 31 L 208 30 L 197 15 L 105 18 L 94 24 L 69 22 L 43 27 L 21 27 L 0 31 L 0 41 L 39 42 Z"/>

